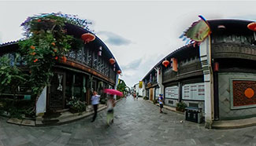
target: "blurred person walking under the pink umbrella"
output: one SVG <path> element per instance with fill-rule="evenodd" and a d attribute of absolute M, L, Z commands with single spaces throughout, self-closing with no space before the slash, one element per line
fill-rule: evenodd
<path fill-rule="evenodd" d="M 115 101 L 113 100 L 113 95 L 110 95 L 109 100 L 107 100 L 106 108 L 106 123 L 109 126 L 110 121 L 113 123 L 113 107 L 115 107 Z"/>

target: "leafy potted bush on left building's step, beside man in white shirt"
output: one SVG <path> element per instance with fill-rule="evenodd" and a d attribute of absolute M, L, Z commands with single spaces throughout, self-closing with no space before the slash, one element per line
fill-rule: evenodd
<path fill-rule="evenodd" d="M 83 112 L 86 110 L 86 105 L 80 99 L 74 97 L 72 100 L 68 102 L 70 106 L 69 111 L 72 113 Z"/>

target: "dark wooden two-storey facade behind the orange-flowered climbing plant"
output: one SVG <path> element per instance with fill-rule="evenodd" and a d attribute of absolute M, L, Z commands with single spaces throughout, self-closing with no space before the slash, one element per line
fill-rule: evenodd
<path fill-rule="evenodd" d="M 91 33 L 82 27 L 65 24 L 67 34 L 80 38 L 85 33 Z M 0 57 L 9 57 L 10 65 L 19 50 L 18 42 L 7 42 L 0 45 Z M 36 103 L 36 114 L 42 115 L 48 111 L 58 111 L 67 106 L 67 102 L 76 97 L 91 104 L 91 93 L 97 91 L 102 94 L 103 89 L 114 89 L 117 86 L 118 74 L 121 70 L 117 62 L 109 63 L 113 54 L 100 38 L 95 36 L 93 42 L 83 44 L 80 48 L 72 48 L 65 54 L 67 60 L 59 61 L 54 66 L 54 77 L 50 86 L 43 89 L 43 93 Z M 20 57 L 16 62 L 17 67 L 26 68 L 26 62 Z M 21 85 L 17 91 L 19 99 L 30 99 L 31 89 L 28 85 Z M 8 88 L 1 93 L 2 97 L 9 97 Z"/>

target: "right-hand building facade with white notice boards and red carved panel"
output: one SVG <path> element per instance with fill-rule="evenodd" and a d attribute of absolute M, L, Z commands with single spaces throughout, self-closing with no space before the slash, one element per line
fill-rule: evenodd
<path fill-rule="evenodd" d="M 200 46 L 176 49 L 147 73 L 145 93 L 150 100 L 163 93 L 169 106 L 184 101 L 189 107 L 202 108 L 206 126 L 215 120 L 254 117 L 256 38 L 247 28 L 251 21 L 208 23 L 212 33 Z M 164 60 L 171 63 L 166 68 Z"/>

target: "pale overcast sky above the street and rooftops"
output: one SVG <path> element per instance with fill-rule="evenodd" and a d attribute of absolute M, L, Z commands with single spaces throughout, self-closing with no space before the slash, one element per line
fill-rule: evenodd
<path fill-rule="evenodd" d="M 185 45 L 179 36 L 202 15 L 206 20 L 256 20 L 253 1 L 0 1 L 0 43 L 23 38 L 20 24 L 39 13 L 90 20 L 133 86 L 162 58 Z"/>

